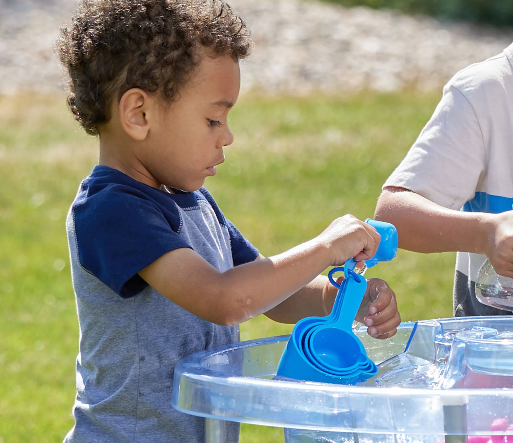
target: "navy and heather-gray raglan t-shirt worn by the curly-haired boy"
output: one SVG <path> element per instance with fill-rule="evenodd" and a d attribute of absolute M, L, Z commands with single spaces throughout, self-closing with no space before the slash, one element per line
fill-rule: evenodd
<path fill-rule="evenodd" d="M 238 341 L 239 328 L 195 316 L 137 273 L 177 248 L 192 248 L 221 272 L 253 261 L 257 249 L 205 188 L 171 194 L 106 166 L 82 182 L 66 228 L 80 348 L 75 426 L 65 442 L 203 441 L 203 419 L 171 407 L 174 367 Z M 238 441 L 238 425 L 227 433 Z"/>

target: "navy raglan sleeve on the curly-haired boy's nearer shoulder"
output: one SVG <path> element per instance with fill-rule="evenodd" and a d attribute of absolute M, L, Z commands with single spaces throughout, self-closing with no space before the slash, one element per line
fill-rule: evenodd
<path fill-rule="evenodd" d="M 174 249 L 190 247 L 176 232 L 180 215 L 162 210 L 134 189 L 115 185 L 72 207 L 83 267 L 123 298 L 148 284 L 137 274 Z"/>

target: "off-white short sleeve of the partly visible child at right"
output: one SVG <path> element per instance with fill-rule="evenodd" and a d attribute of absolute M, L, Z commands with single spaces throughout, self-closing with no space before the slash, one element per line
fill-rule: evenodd
<path fill-rule="evenodd" d="M 445 88 L 431 119 L 383 188 L 403 187 L 450 209 L 472 199 L 484 174 L 485 144 L 467 98 Z"/>

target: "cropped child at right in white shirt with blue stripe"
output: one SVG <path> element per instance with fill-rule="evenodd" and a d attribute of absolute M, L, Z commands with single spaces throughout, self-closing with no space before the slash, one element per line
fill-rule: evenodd
<path fill-rule="evenodd" d="M 509 314 L 481 304 L 475 282 L 487 257 L 499 274 L 513 278 L 512 66 L 510 45 L 447 83 L 376 207 L 378 220 L 396 225 L 400 247 L 458 251 L 458 317 Z"/>

